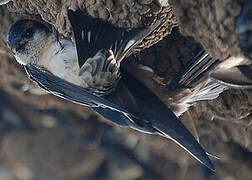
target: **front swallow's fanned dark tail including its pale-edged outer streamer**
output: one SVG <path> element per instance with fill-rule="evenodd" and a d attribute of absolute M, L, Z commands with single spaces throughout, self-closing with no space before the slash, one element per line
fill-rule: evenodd
<path fill-rule="evenodd" d="M 146 29 L 127 32 L 80 10 L 68 10 L 68 18 L 73 27 L 80 67 L 101 49 L 112 49 L 116 59 L 121 61 L 133 47 L 165 22 L 163 18 Z"/>

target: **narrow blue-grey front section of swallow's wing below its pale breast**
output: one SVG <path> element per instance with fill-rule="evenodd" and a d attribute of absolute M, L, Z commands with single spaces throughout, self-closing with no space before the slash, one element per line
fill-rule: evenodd
<path fill-rule="evenodd" d="M 105 109 L 107 112 L 116 111 L 119 114 L 131 115 L 137 118 L 135 115 L 129 113 L 120 106 L 115 105 L 102 97 L 95 96 L 80 86 L 44 72 L 31 64 L 26 65 L 25 70 L 32 81 L 36 82 L 41 88 L 55 96 L 91 108 Z"/>

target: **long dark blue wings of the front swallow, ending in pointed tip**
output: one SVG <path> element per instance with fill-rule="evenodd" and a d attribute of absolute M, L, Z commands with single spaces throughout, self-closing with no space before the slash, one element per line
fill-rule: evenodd
<path fill-rule="evenodd" d="M 123 74 L 123 77 L 126 78 L 124 82 L 126 82 L 129 90 L 134 92 L 133 97 L 141 110 L 141 117 L 149 119 L 151 124 L 145 121 L 141 122 L 138 117 L 124 108 L 106 99 L 97 97 L 77 85 L 43 72 L 33 65 L 28 64 L 25 66 L 25 69 L 31 80 L 48 92 L 74 103 L 91 107 L 116 124 L 129 126 L 145 133 L 158 133 L 164 137 L 171 138 L 200 162 L 210 169 L 214 169 L 206 152 L 178 118 L 148 89 L 136 82 L 136 80 L 134 81 L 127 74 Z"/>

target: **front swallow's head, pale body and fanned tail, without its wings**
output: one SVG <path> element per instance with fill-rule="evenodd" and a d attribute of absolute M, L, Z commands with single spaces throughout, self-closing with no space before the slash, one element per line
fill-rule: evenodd
<path fill-rule="evenodd" d="M 127 53 L 164 23 L 162 19 L 146 29 L 127 32 L 80 12 L 69 11 L 69 19 L 73 28 L 81 32 L 75 35 L 77 47 L 31 20 L 16 22 L 8 32 L 7 44 L 18 63 L 45 68 L 99 96 L 111 93 L 117 86 L 120 63 Z M 85 26 L 79 27 L 79 21 Z"/>

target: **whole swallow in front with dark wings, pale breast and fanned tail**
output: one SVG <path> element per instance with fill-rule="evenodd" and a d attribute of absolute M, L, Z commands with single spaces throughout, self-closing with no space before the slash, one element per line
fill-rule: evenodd
<path fill-rule="evenodd" d="M 211 170 L 208 153 L 178 117 L 141 81 L 120 68 L 121 61 L 153 30 L 125 31 L 81 11 L 68 11 L 75 44 L 41 24 L 12 25 L 7 44 L 30 79 L 58 97 L 88 106 L 111 122 L 169 138 Z"/>

